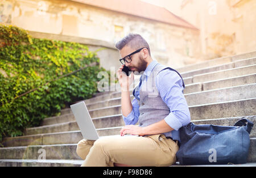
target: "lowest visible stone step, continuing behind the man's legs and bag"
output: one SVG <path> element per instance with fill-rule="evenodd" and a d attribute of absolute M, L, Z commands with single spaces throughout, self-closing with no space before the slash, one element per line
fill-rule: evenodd
<path fill-rule="evenodd" d="M 251 144 L 249 148 L 247 162 L 255 163 L 256 138 L 250 138 L 250 141 Z M 76 147 L 76 144 L 63 144 L 0 148 L 0 166 L 6 166 L 6 164 L 3 164 L 3 162 L 11 162 L 12 160 L 16 160 L 17 162 L 30 162 L 30 160 L 37 160 L 38 162 L 44 163 L 51 162 L 51 160 L 56 160 L 57 163 L 64 160 L 66 161 L 66 163 L 77 160 L 80 161 L 79 163 L 82 163 L 83 160 L 81 160 L 81 158 L 76 154 Z M 40 156 L 42 154 L 44 154 L 45 158 L 42 158 L 42 156 Z"/>

